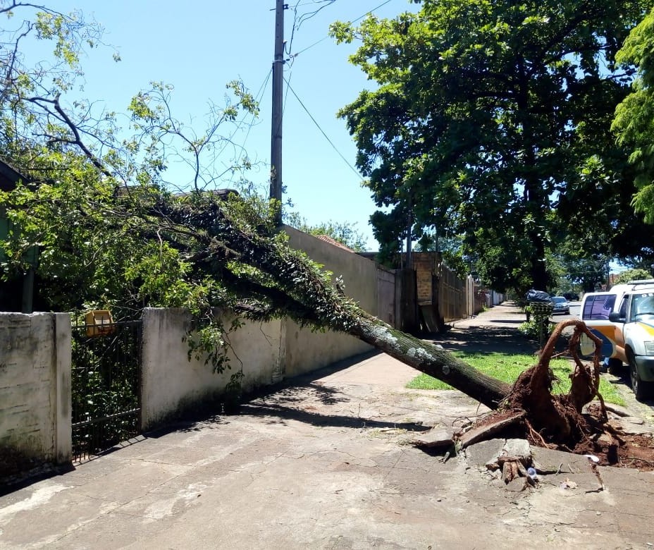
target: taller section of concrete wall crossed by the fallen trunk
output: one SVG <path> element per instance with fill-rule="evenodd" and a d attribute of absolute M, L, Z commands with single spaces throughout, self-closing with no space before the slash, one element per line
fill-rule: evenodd
<path fill-rule="evenodd" d="M 331 271 L 334 276 L 343 276 L 345 294 L 354 298 L 366 312 L 377 314 L 375 262 L 292 227 L 284 226 L 284 231 L 288 233 L 292 248 L 304 250 L 314 262 L 326 266 L 325 269 Z M 285 377 L 311 372 L 371 349 L 368 344 L 347 334 L 316 333 L 310 329 L 301 329 L 291 320 L 285 323 Z"/>

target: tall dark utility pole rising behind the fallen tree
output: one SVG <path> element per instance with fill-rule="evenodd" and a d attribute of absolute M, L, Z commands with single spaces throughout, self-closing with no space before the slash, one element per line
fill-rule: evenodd
<path fill-rule="evenodd" d="M 284 10 L 288 4 L 277 0 L 275 11 L 275 59 L 273 60 L 273 122 L 271 131 L 270 154 L 270 198 L 280 202 L 280 209 L 276 215 L 277 225 L 281 224 L 282 200 L 282 93 L 284 71 Z"/>

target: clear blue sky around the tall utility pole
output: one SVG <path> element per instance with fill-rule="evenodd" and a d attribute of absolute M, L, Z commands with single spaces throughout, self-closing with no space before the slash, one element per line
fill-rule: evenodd
<path fill-rule="evenodd" d="M 111 50 L 97 49 L 82 59 L 85 97 L 107 109 L 125 112 L 138 90 L 152 80 L 163 81 L 175 87 L 172 106 L 177 118 L 202 128 L 209 103 L 224 104 L 228 81 L 240 78 L 254 94 L 263 90 L 259 120 L 247 140 L 245 133 L 235 140 L 244 142 L 251 158 L 266 164 L 251 179 L 267 193 L 275 0 L 192 0 L 185 4 L 58 0 L 55 5 L 61 11 L 78 9 L 93 16 L 106 29 L 105 42 L 121 55 L 122 61 L 115 63 Z M 369 250 L 376 250 L 368 224 L 376 207 L 353 169 L 356 148 L 345 121 L 335 116 L 361 90 L 375 85 L 347 61 L 355 45 L 336 45 L 328 37 L 328 25 L 335 20 L 357 20 L 368 11 L 395 17 L 415 10 L 416 5 L 408 0 L 294 0 L 288 6 L 285 39 L 292 63 L 286 64 L 285 80 L 299 101 L 292 92 L 285 95 L 283 183 L 287 197 L 310 224 L 328 220 L 357 224 Z"/>

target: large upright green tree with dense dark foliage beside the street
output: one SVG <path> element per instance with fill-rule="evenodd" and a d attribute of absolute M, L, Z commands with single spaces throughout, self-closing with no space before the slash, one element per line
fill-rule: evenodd
<path fill-rule="evenodd" d="M 545 288 L 571 212 L 627 176 L 608 132 L 631 76 L 615 53 L 651 1 L 421 6 L 332 26 L 361 40 L 350 59 L 378 83 L 340 111 L 378 206 L 393 207 L 372 216 L 376 238 L 394 252 L 412 215 L 415 238 L 463 235 L 495 288 Z M 585 228 L 615 232 L 619 212 L 591 212 L 607 222 L 578 217 Z"/>

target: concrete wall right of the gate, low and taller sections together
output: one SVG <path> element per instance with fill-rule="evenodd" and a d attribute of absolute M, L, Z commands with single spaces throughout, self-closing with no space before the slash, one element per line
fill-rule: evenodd
<path fill-rule="evenodd" d="M 375 262 L 349 250 L 286 226 L 290 245 L 304 250 L 314 262 L 343 276 L 345 293 L 371 314 L 393 310 L 394 296 L 379 303 Z M 204 360 L 188 361 L 188 344 L 182 341 L 190 326 L 183 310 L 146 309 L 143 312 L 142 427 L 165 422 L 195 403 L 218 399 L 233 371 L 215 374 Z M 347 334 L 312 332 L 290 319 L 266 324 L 247 323 L 230 335 L 233 369 L 242 364 L 245 391 L 283 378 L 330 365 L 370 350 L 370 346 Z"/>

